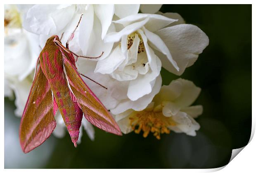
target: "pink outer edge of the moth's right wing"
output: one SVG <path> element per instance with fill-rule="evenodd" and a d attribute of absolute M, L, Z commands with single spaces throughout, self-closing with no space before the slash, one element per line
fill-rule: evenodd
<path fill-rule="evenodd" d="M 67 65 L 70 65 L 71 66 L 71 68 L 76 72 L 76 75 L 77 75 L 77 77 L 79 78 L 79 79 L 81 79 L 81 81 L 83 82 L 83 84 L 86 86 L 86 88 L 88 89 L 88 91 L 90 92 L 90 94 L 102 105 L 102 107 L 105 109 L 105 110 L 107 110 L 105 107 L 104 107 L 104 105 L 101 103 L 101 101 L 97 98 L 97 96 L 95 96 L 95 94 L 91 91 L 91 89 L 85 84 L 85 82 L 83 81 L 83 79 L 81 78 L 81 76 L 79 75 L 79 73 L 77 72 L 77 70 L 73 67 L 73 65 L 71 64 L 71 62 L 64 56 L 63 57 L 63 62 L 64 62 L 64 64 L 67 64 Z M 68 76 L 68 78 L 69 78 L 69 76 Z M 70 79 L 69 79 L 70 80 Z M 71 81 L 69 81 L 69 82 L 71 82 Z M 76 97 L 76 95 L 75 95 L 75 97 Z M 80 104 L 80 103 L 79 103 Z M 108 112 L 108 111 L 107 111 Z M 114 121 L 114 118 L 112 117 L 112 115 L 108 112 L 108 114 L 109 114 L 109 116 L 113 119 L 113 121 Z M 114 128 L 115 128 L 115 130 L 113 131 L 113 130 L 109 130 L 109 128 L 106 128 L 106 125 L 105 124 L 96 124 L 91 118 L 90 118 L 90 116 L 88 116 L 88 115 L 85 115 L 85 112 L 84 112 L 84 116 L 85 116 L 85 118 L 89 121 L 89 122 L 91 122 L 93 125 L 95 125 L 95 126 L 97 126 L 98 128 L 100 128 L 100 129 L 103 129 L 103 130 L 105 130 L 105 131 L 108 131 L 108 132 L 110 132 L 110 133 L 114 133 L 114 134 L 116 134 L 116 135 L 119 135 L 119 136 L 122 136 L 122 133 L 121 133 L 121 130 L 120 130 L 120 128 L 119 128 L 119 126 L 117 125 L 117 123 L 115 122 L 115 124 L 113 124 L 114 125 Z"/>

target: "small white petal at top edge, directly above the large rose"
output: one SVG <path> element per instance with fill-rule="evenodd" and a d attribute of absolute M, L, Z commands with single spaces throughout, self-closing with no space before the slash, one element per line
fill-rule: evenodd
<path fill-rule="evenodd" d="M 120 19 L 139 12 L 139 4 L 115 4 L 115 14 Z"/>

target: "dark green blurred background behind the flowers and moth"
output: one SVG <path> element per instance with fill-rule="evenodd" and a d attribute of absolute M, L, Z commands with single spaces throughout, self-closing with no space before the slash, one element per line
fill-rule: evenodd
<path fill-rule="evenodd" d="M 19 146 L 20 118 L 5 98 L 5 168 L 217 168 L 228 164 L 232 149 L 251 135 L 251 5 L 163 5 L 209 36 L 209 46 L 181 76 L 201 87 L 194 105 L 204 112 L 196 120 L 197 136 L 170 133 L 161 140 L 129 133 L 122 137 L 95 128 L 73 147 L 68 134 L 50 136 L 24 154 Z M 163 84 L 179 78 L 161 70 Z"/>

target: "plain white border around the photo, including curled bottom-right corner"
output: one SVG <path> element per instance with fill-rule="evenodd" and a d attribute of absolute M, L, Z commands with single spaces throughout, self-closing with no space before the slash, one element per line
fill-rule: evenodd
<path fill-rule="evenodd" d="M 33 3 L 40 3 L 40 4 L 52 4 L 52 1 L 50 0 L 43 0 L 43 1 L 32 1 L 32 0 L 22 0 L 22 3 L 24 4 L 33 4 Z M 72 1 L 64 1 L 64 0 L 55 0 L 54 3 L 57 4 L 57 3 L 76 3 L 76 4 L 83 4 L 83 3 L 92 3 L 92 4 L 100 4 L 100 3 L 106 3 L 106 1 L 103 1 L 103 0 L 87 0 L 87 1 L 84 1 L 84 0 L 72 0 Z M 122 2 L 120 0 L 108 0 L 107 1 L 108 3 L 111 3 L 111 4 L 122 4 Z M 149 1 L 149 0 L 145 0 L 145 1 L 141 1 L 141 0 L 129 0 L 129 1 L 123 1 L 123 3 L 131 3 L 131 4 L 137 4 L 137 3 L 140 3 L 140 4 L 154 4 L 156 3 L 156 1 Z M 157 0 L 157 3 L 159 4 L 169 4 L 169 3 L 172 3 L 172 4 L 253 4 L 252 5 L 252 47 L 254 48 L 252 50 L 252 88 L 256 89 L 256 83 L 255 83 L 255 77 L 256 77 L 256 60 L 255 60 L 255 4 L 254 4 L 254 0 L 243 0 L 243 1 L 239 1 L 239 0 Z M 3 3 L 5 4 L 21 4 L 21 1 L 20 0 L 5 0 Z M 2 8 L 1 8 L 2 12 L 1 12 L 1 19 L 3 21 L 4 19 L 4 5 L 2 5 Z M 238 12 L 239 13 L 239 12 Z M 246 20 L 246 19 L 245 19 Z M 239 25 L 239 23 L 237 23 Z M 1 27 L 1 38 L 2 38 L 2 42 L 1 42 L 1 50 L 2 52 L 4 52 L 4 28 L 3 26 Z M 0 69 L 1 69 L 1 74 L 0 74 L 0 80 L 1 81 L 4 81 L 4 58 L 2 56 L 2 62 L 0 63 Z M 2 99 L 0 100 L 1 101 L 1 105 L 2 105 L 2 108 L 3 108 L 3 105 L 4 105 L 4 85 L 3 85 L 3 82 L 2 82 L 2 85 L 1 85 L 1 90 L 0 90 L 1 94 L 2 94 Z M 242 150 L 241 153 L 239 153 L 239 156 L 238 157 L 235 157 L 227 166 L 223 166 L 221 168 L 213 168 L 213 169 L 171 169 L 171 170 L 168 170 L 168 169 L 161 169 L 159 171 L 161 172 L 166 172 L 166 173 L 170 173 L 170 172 L 195 172 L 195 173 L 199 173 L 199 172 L 213 172 L 213 171 L 219 171 L 220 172 L 223 172 L 223 173 L 229 173 L 229 172 L 232 172 L 232 173 L 241 173 L 241 172 L 244 172 L 244 173 L 247 173 L 247 172 L 254 172 L 255 171 L 255 157 L 256 157 L 256 140 L 253 139 L 252 137 L 254 136 L 254 131 L 255 131 L 255 108 L 256 108 L 256 102 L 255 102 L 255 98 L 256 98 L 256 93 L 254 90 L 252 90 L 252 133 L 251 133 L 251 138 L 250 138 L 250 142 L 247 146 L 244 147 L 244 150 Z M 2 130 L 2 133 L 1 133 L 1 137 L 2 137 L 2 140 L 4 139 L 4 110 L 2 109 L 1 110 L 2 112 L 2 116 L 1 116 L 1 130 Z M 1 145 L 1 155 L 2 157 L 0 157 L 1 159 L 1 168 L 2 170 L 4 169 L 4 143 L 0 143 Z M 238 150 L 235 150 L 234 152 L 237 152 Z M 63 158 L 65 159 L 65 158 Z M 34 172 L 35 170 L 33 169 L 5 169 L 6 172 Z M 41 169 L 41 170 L 36 170 L 38 173 L 40 172 L 45 172 L 45 170 Z M 65 169 L 53 169 L 53 170 L 49 170 L 49 171 L 54 171 L 54 172 L 69 172 L 70 170 L 65 170 Z M 76 169 L 75 171 L 77 172 L 92 172 L 92 173 L 95 173 L 95 172 L 111 172 L 111 173 L 120 173 L 120 171 L 122 173 L 130 173 L 130 171 L 142 171 L 142 172 L 155 172 L 157 170 L 144 170 L 144 169 L 140 169 L 140 170 L 128 170 L 128 169 L 107 169 L 107 170 L 102 170 L 102 169 L 93 169 L 93 170 L 83 170 L 83 169 Z"/>

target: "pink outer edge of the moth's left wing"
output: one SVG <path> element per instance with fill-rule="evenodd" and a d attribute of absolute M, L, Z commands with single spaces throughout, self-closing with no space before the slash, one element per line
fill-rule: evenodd
<path fill-rule="evenodd" d="M 41 142 L 38 143 L 38 144 L 25 146 L 25 143 L 22 143 L 22 141 L 21 141 L 21 125 L 22 125 L 22 123 L 23 123 L 24 115 L 25 115 L 25 113 L 26 113 L 26 110 L 28 109 L 28 104 L 29 104 L 28 102 L 29 102 L 29 100 L 30 100 L 30 98 L 31 98 L 31 96 L 32 96 L 32 95 L 31 95 L 31 93 L 32 93 L 32 88 L 33 88 L 33 86 L 35 85 L 35 81 L 36 81 L 36 78 L 38 77 L 39 73 L 42 72 L 42 71 L 40 71 L 40 70 L 41 70 L 40 68 L 41 68 L 41 67 L 39 66 L 38 71 L 36 71 L 36 75 L 35 75 L 35 77 L 34 77 L 34 80 L 33 80 L 33 83 L 32 83 L 32 86 L 31 86 L 31 89 L 30 89 L 30 92 L 29 92 L 29 95 L 28 95 L 28 99 L 27 99 L 27 101 L 26 101 L 26 105 L 25 105 L 25 108 L 24 108 L 24 111 L 23 111 L 23 114 L 22 114 L 22 117 L 21 117 L 21 122 L 20 122 L 20 127 L 19 127 L 20 145 L 21 145 L 21 149 L 23 150 L 24 153 L 28 153 L 28 152 L 30 152 L 31 150 L 33 150 L 34 148 L 40 146 L 45 140 L 47 140 L 47 138 L 50 137 L 51 133 L 53 132 L 53 130 L 54 130 L 55 127 L 56 127 L 56 122 L 55 122 L 55 121 L 52 122 L 51 124 L 49 124 L 52 130 L 51 130 L 51 131 L 48 131 L 48 133 L 47 133 L 47 135 L 44 137 L 43 141 L 41 141 Z M 54 98 L 53 98 L 52 100 L 54 100 Z M 56 105 L 57 105 L 57 104 L 56 104 Z M 52 107 L 54 107 L 54 102 L 52 102 Z M 55 106 L 55 108 L 56 108 L 56 106 Z M 56 111 L 57 111 L 57 110 L 56 110 Z M 52 112 L 52 113 L 54 113 L 54 112 Z M 55 113 L 56 113 L 56 112 L 55 112 Z M 35 137 L 38 137 L 38 135 L 35 136 Z"/>

